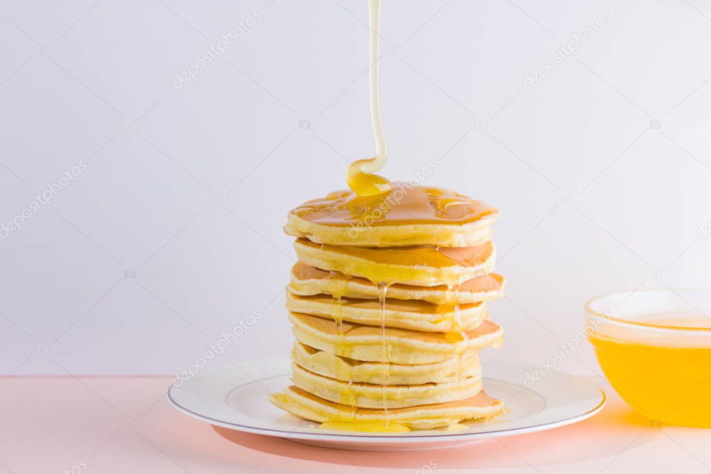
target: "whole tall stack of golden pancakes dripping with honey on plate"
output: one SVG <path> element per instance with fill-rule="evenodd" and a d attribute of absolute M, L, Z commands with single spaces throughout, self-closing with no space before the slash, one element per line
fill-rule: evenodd
<path fill-rule="evenodd" d="M 503 330 L 488 301 L 495 208 L 439 188 L 396 183 L 338 191 L 289 212 L 299 257 L 287 287 L 296 342 L 292 382 L 270 400 L 324 426 L 429 429 L 490 418 L 479 350 Z"/>

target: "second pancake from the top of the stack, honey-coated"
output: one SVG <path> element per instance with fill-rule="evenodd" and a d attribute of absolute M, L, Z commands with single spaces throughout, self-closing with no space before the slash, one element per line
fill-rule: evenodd
<path fill-rule="evenodd" d="M 493 271 L 496 248 L 489 241 L 475 247 L 353 247 L 294 242 L 296 256 L 307 265 L 387 284 L 459 285 Z"/>

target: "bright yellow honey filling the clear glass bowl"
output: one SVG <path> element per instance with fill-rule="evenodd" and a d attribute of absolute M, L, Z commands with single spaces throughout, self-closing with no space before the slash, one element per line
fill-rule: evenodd
<path fill-rule="evenodd" d="M 711 427 L 711 320 L 702 314 L 611 321 L 589 340 L 604 375 L 653 425 Z"/>

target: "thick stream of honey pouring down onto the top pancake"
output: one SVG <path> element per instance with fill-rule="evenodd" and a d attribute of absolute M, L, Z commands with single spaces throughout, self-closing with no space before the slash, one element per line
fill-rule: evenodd
<path fill-rule="evenodd" d="M 380 118 L 380 0 L 369 0 L 370 6 L 370 120 L 375 135 L 375 156 L 353 161 L 348 166 L 348 186 L 359 196 L 373 196 L 389 191 L 392 186 L 383 176 L 373 173 L 385 166 L 387 143 Z"/>

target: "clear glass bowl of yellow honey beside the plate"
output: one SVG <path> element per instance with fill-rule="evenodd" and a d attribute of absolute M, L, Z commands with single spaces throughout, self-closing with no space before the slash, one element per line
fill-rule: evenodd
<path fill-rule="evenodd" d="M 653 425 L 711 427 L 711 289 L 632 291 L 585 303 L 608 381 Z"/>

